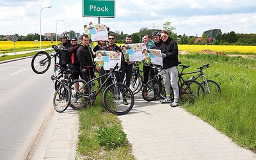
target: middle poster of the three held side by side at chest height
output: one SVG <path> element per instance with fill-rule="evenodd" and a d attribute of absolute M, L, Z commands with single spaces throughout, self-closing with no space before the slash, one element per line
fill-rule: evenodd
<path fill-rule="evenodd" d="M 142 61 L 144 55 L 143 49 L 147 49 L 146 45 L 141 44 L 125 44 L 120 47 L 124 53 L 125 61 Z"/>

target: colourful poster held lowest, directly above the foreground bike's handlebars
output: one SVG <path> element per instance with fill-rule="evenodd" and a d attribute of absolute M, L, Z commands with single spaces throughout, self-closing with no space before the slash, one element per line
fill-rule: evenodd
<path fill-rule="evenodd" d="M 103 67 L 105 70 L 114 68 L 116 63 L 118 63 L 119 68 L 121 66 L 121 53 L 113 51 L 97 51 L 96 56 L 97 57 L 94 58 L 96 65 Z"/>

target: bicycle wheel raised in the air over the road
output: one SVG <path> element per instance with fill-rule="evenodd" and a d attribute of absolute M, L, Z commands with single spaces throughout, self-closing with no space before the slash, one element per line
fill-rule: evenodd
<path fill-rule="evenodd" d="M 45 51 L 40 51 L 33 56 L 31 68 L 36 74 L 44 74 L 51 65 L 51 57 Z"/>

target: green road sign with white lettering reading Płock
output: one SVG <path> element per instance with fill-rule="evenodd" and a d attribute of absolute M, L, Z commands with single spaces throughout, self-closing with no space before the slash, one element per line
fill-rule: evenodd
<path fill-rule="evenodd" d="M 115 17 L 115 0 L 83 0 L 83 17 Z"/>

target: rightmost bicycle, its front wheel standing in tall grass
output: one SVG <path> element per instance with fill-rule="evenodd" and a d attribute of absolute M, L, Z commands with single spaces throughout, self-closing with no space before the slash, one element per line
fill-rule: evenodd
<path fill-rule="evenodd" d="M 204 87 L 205 93 L 207 94 L 211 94 L 214 96 L 219 96 L 221 95 L 221 88 L 220 85 L 218 83 L 216 83 L 215 81 L 209 80 L 207 79 L 207 77 L 205 76 L 203 70 L 209 68 L 209 63 L 205 64 L 201 67 L 198 67 L 196 71 L 193 72 L 186 72 L 186 73 L 182 73 L 183 75 L 186 74 L 194 74 L 194 73 L 199 73 L 197 74 L 197 76 L 192 76 L 190 79 L 193 79 L 194 81 L 198 80 L 199 77 L 202 77 L 202 86 Z"/>

